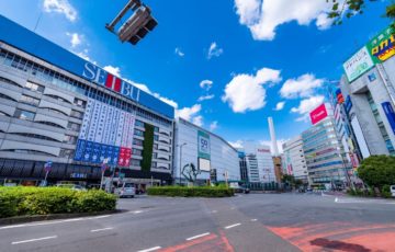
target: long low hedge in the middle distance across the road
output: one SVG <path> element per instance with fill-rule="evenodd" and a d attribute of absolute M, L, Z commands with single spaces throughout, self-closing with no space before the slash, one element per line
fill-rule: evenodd
<path fill-rule="evenodd" d="M 211 186 L 155 186 L 147 190 L 148 195 L 170 197 L 230 197 L 235 195 L 233 188 Z"/>

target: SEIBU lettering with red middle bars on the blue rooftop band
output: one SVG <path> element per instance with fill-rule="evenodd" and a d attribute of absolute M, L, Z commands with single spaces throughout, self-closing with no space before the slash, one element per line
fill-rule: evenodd
<path fill-rule="evenodd" d="M 115 77 L 93 64 L 86 62 L 82 76 L 88 80 L 105 87 L 116 93 L 138 102 L 140 90 Z"/>

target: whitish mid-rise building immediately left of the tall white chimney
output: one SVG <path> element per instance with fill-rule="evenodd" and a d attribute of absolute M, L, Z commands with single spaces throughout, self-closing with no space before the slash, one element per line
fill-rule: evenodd
<path fill-rule="evenodd" d="M 245 142 L 245 153 L 249 182 L 276 182 L 273 159 L 269 146 L 247 141 Z"/>

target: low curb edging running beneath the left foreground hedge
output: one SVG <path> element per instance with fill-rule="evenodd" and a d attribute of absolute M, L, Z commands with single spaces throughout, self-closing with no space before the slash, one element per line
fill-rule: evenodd
<path fill-rule="evenodd" d="M 87 216 L 109 215 L 109 214 L 119 214 L 119 213 L 123 213 L 123 210 L 115 209 L 115 210 L 104 210 L 104 211 L 94 211 L 94 213 L 16 216 L 16 217 L 1 218 L 0 226 L 53 220 L 53 219 L 69 219 L 69 218 L 79 218 Z"/>

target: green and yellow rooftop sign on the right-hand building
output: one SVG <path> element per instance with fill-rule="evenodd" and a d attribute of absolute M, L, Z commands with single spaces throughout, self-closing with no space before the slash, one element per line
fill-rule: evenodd
<path fill-rule="evenodd" d="M 366 47 L 374 64 L 381 64 L 395 55 L 395 31 L 385 28 L 371 39 Z"/>

